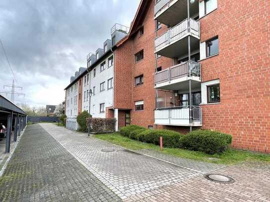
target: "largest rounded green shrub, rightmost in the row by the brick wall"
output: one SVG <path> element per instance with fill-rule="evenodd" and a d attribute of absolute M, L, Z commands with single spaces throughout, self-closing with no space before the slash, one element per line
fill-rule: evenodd
<path fill-rule="evenodd" d="M 232 142 L 232 136 L 216 131 L 197 130 L 184 135 L 180 139 L 180 147 L 203 151 L 208 154 L 222 153 Z"/>

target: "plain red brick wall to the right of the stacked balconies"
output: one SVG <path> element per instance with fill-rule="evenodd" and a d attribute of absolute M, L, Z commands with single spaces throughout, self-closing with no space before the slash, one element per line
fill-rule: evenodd
<path fill-rule="evenodd" d="M 219 55 L 201 61 L 202 80 L 220 79 L 221 104 L 203 105 L 203 129 L 233 135 L 233 146 L 270 152 L 270 4 L 218 0 L 200 19 L 201 41 Z"/>

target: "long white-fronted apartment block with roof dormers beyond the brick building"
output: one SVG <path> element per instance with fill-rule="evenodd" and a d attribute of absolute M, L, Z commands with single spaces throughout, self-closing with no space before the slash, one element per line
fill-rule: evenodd
<path fill-rule="evenodd" d="M 94 54 L 87 56 L 87 68 L 81 67 L 71 76 L 66 90 L 66 126 L 78 130 L 77 115 L 88 111 L 94 118 L 113 118 L 113 85 L 115 44 L 127 36 L 129 28 L 115 24 L 111 28 L 111 39 L 103 43 Z M 91 95 L 90 92 L 91 91 Z M 90 109 L 89 109 L 90 106 Z"/>

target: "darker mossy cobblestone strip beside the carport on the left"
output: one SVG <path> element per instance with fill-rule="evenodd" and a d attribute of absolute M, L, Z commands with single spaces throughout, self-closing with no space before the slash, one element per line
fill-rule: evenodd
<path fill-rule="evenodd" d="M 27 126 L 3 176 L 0 202 L 117 202 L 100 182 L 41 126 Z"/>

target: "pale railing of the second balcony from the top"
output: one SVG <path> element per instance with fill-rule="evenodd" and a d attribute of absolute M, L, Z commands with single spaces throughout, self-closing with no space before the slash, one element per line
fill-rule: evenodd
<path fill-rule="evenodd" d="M 167 32 L 156 38 L 155 50 L 158 51 L 162 47 L 180 40 L 188 33 L 194 37 L 199 38 L 200 37 L 199 22 L 193 20 L 192 18 L 189 18 L 189 26 L 190 28 L 188 28 L 188 19 L 185 19 L 176 26 L 170 28 Z"/>

